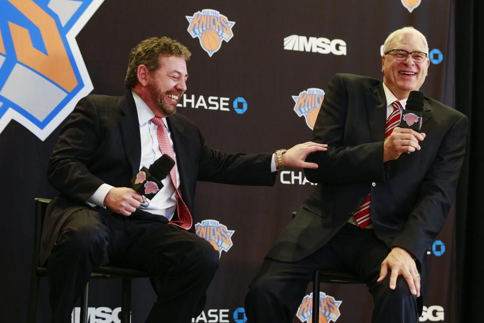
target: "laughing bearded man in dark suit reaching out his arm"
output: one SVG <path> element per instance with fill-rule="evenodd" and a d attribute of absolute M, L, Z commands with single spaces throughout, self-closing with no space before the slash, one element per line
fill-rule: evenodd
<path fill-rule="evenodd" d="M 207 147 L 197 126 L 175 114 L 190 55 L 167 37 L 142 41 L 131 52 L 126 96 L 89 95 L 63 127 L 48 167 L 61 194 L 48 206 L 40 254 L 54 322 L 71 321 L 92 270 L 110 263 L 158 276 L 147 322 L 188 323 L 203 309 L 218 266 L 218 252 L 193 227 L 197 180 L 273 185 L 276 168 L 317 167 L 306 156 L 326 150 L 305 143 L 245 155 Z M 176 164 L 148 200 L 130 180 L 162 154 Z"/>

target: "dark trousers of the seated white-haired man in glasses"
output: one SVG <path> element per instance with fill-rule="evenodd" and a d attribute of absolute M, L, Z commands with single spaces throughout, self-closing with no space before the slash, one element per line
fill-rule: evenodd
<path fill-rule="evenodd" d="M 416 297 L 399 276 L 395 290 L 389 288 L 390 274 L 377 283 L 381 262 L 388 247 L 372 229 L 346 224 L 325 246 L 294 262 L 265 259 L 246 296 L 249 323 L 292 322 L 306 294 L 314 271 L 344 271 L 366 282 L 374 298 L 374 323 L 416 323 Z"/>

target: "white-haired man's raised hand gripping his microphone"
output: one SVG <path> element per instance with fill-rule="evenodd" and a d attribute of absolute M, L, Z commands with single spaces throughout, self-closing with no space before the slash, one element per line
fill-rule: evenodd
<path fill-rule="evenodd" d="M 418 133 L 408 128 L 396 127 L 383 143 L 383 161 L 400 157 L 403 152 L 420 150 L 419 141 L 425 138 L 425 133 Z"/>

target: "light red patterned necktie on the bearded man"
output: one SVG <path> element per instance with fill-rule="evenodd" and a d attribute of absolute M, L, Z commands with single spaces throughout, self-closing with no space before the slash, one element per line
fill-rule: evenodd
<path fill-rule="evenodd" d="M 158 145 L 162 154 L 167 154 L 173 160 L 175 160 L 175 155 L 173 154 L 173 148 L 171 147 L 170 141 L 168 139 L 168 134 L 166 133 L 165 124 L 161 118 L 153 117 L 151 121 L 158 126 L 156 130 L 156 136 L 158 137 Z M 192 214 L 187 207 L 187 204 L 181 199 L 180 193 L 176 188 L 176 167 L 170 171 L 171 182 L 175 188 L 176 193 L 176 213 L 178 215 L 178 220 L 170 221 L 169 224 L 180 227 L 185 230 L 189 230 L 192 227 Z"/>

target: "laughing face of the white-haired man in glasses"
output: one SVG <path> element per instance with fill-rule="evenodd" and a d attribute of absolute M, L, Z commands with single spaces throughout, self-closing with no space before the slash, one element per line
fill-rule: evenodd
<path fill-rule="evenodd" d="M 408 52 L 428 53 L 422 37 L 416 32 L 397 34 L 385 52 L 391 49 L 405 49 Z M 421 63 L 414 62 L 411 55 L 403 61 L 396 60 L 391 53 L 382 56 L 383 82 L 388 89 L 401 100 L 408 97 L 410 91 L 418 90 L 427 76 L 429 58 Z"/>

